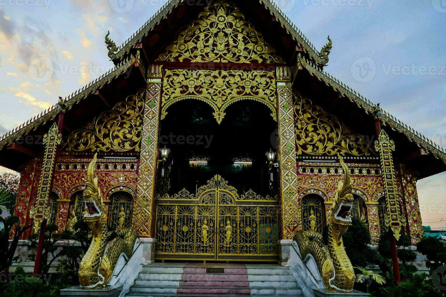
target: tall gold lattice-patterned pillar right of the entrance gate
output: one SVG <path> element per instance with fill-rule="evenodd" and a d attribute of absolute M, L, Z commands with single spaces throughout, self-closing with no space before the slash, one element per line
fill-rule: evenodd
<path fill-rule="evenodd" d="M 296 141 L 293 117 L 293 90 L 288 67 L 277 67 L 277 103 L 279 125 L 280 185 L 282 238 L 292 239 L 301 228 L 298 224 L 300 207 L 297 200 Z"/>

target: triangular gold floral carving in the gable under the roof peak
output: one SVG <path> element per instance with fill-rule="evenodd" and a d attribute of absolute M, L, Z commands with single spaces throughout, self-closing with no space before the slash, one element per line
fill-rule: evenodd
<path fill-rule="evenodd" d="M 239 8 L 222 0 L 204 8 L 157 61 L 284 63 Z"/>

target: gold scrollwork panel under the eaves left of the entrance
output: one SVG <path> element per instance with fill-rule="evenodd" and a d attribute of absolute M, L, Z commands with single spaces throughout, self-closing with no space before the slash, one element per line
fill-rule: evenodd
<path fill-rule="evenodd" d="M 66 151 L 139 151 L 144 99 L 128 96 L 68 136 Z"/>

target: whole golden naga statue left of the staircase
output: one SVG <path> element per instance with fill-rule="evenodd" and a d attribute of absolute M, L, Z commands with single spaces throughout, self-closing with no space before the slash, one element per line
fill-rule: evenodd
<path fill-rule="evenodd" d="M 93 233 L 90 247 L 82 258 L 79 266 L 79 283 L 82 289 L 95 289 L 106 286 L 110 281 L 116 262 L 121 253 L 127 257 L 132 254 L 133 247 L 139 234 L 134 229 L 118 229 L 116 237 L 111 241 L 107 238 L 111 234 L 107 229 L 107 212 L 105 211 L 98 178 L 94 176 L 97 154 L 87 169 L 87 184 L 83 191 L 83 198 L 87 213 L 83 220 Z"/>

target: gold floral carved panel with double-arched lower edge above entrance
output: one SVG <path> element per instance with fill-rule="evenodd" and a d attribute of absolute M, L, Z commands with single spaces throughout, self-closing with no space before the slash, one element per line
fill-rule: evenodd
<path fill-rule="evenodd" d="M 273 71 L 166 70 L 163 80 L 161 119 L 167 108 L 184 99 L 209 104 L 218 123 L 227 106 L 242 99 L 262 102 L 277 120 L 276 78 Z"/>

